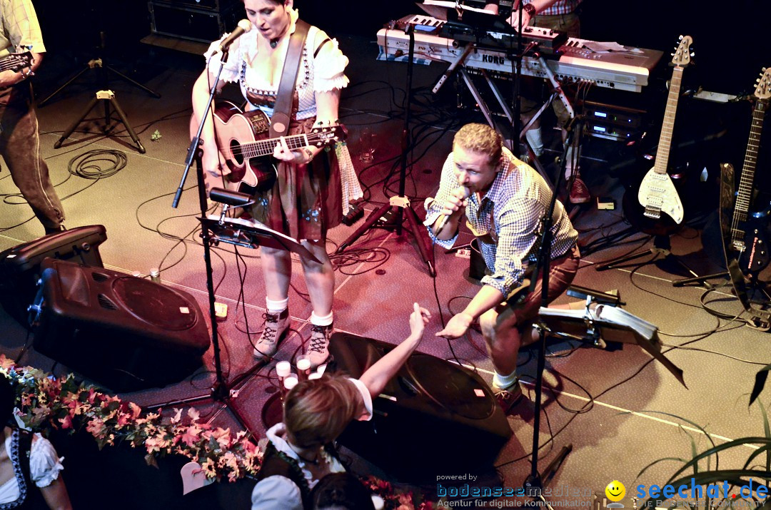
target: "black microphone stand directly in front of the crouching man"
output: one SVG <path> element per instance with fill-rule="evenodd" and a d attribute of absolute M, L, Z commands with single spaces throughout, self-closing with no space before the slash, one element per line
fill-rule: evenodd
<path fill-rule="evenodd" d="M 542 273 L 541 290 L 540 290 L 540 306 L 547 307 L 549 305 L 549 270 L 551 263 L 551 227 L 552 216 L 554 216 L 554 207 L 557 205 L 557 190 L 560 189 L 561 180 L 565 173 L 565 165 L 567 163 L 567 147 L 570 146 L 572 137 L 576 129 L 581 128 L 581 122 L 577 117 L 571 120 L 567 125 L 567 145 L 565 146 L 562 154 L 562 161 L 560 164 L 560 171 L 557 173 L 557 180 L 554 183 L 554 191 L 551 193 L 551 201 L 547 212 L 540 220 L 541 239 L 540 247 L 538 250 L 538 256 L 536 260 L 536 267 L 533 271 L 533 280 L 530 283 L 530 291 L 532 292 L 538 279 L 538 271 Z M 525 494 L 531 498 L 535 498 L 541 502 L 540 506 L 545 506 L 549 510 L 553 510 L 549 502 L 543 495 L 544 480 L 548 481 L 554 473 L 560 468 L 562 461 L 567 457 L 567 454 L 573 448 L 573 445 L 567 445 L 562 448 L 557 458 L 547 466 L 544 471 L 544 475 L 541 476 L 538 472 L 538 439 L 540 430 L 540 410 L 541 410 L 541 394 L 543 394 L 544 388 L 544 367 L 546 366 L 546 331 L 545 328 L 540 329 L 539 348 L 536 367 L 536 380 L 535 380 L 535 408 L 534 408 L 534 420 L 533 420 L 533 451 L 530 455 L 530 475 L 524 481 Z M 547 472 L 548 471 L 548 472 Z"/>

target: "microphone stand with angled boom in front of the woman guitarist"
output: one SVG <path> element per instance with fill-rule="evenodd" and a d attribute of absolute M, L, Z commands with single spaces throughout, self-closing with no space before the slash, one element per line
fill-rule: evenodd
<path fill-rule="evenodd" d="M 217 84 L 220 82 L 220 75 L 222 74 L 222 69 L 224 67 L 224 63 L 227 62 L 227 49 L 222 52 L 222 56 L 220 59 L 220 67 L 217 70 L 217 76 L 214 79 L 214 85 L 211 87 L 211 90 L 209 91 L 209 99 L 207 101 L 206 109 L 204 109 L 204 115 L 201 116 L 200 123 L 198 124 L 198 130 L 193 137 L 193 139 L 190 141 L 190 147 L 187 149 L 187 157 L 185 159 L 185 169 L 182 173 L 182 179 L 180 180 L 180 186 L 177 188 L 177 193 L 174 195 L 173 202 L 171 206 L 173 208 L 177 208 L 177 205 L 180 202 L 180 196 L 182 196 L 182 190 L 185 183 L 185 180 L 187 180 L 187 173 L 190 170 L 190 166 L 192 166 L 193 162 L 195 161 L 197 164 L 197 177 L 198 177 L 198 203 L 200 206 L 200 217 L 201 217 L 201 238 L 204 242 L 204 263 L 206 265 L 206 288 L 207 293 L 209 297 L 209 320 L 211 323 L 211 343 L 214 345 L 214 373 L 215 373 L 215 379 L 214 384 L 211 387 L 210 394 L 204 394 L 196 397 L 190 397 L 190 398 L 182 398 L 178 399 L 176 401 L 170 401 L 170 402 L 164 402 L 163 404 L 154 404 L 152 406 L 148 406 L 148 408 L 162 408 L 167 407 L 169 405 L 175 405 L 175 404 L 188 404 L 195 401 L 204 401 L 207 399 L 210 399 L 212 401 L 221 402 L 224 407 L 229 408 L 231 412 L 234 415 L 234 418 L 238 422 L 239 425 L 241 425 L 241 428 L 244 431 L 247 431 L 248 435 L 252 436 L 253 433 L 251 431 L 251 428 L 247 426 L 247 421 L 244 419 L 244 416 L 241 414 L 241 412 L 238 411 L 237 408 L 235 408 L 232 405 L 232 402 L 234 401 L 234 398 L 237 398 L 237 391 L 232 391 L 232 388 L 237 386 L 238 384 L 241 384 L 244 379 L 249 377 L 255 370 L 257 370 L 259 367 L 264 366 L 264 363 L 258 363 L 255 364 L 254 367 L 251 367 L 250 370 L 246 371 L 244 374 L 239 375 L 236 377 L 230 384 L 225 381 L 224 374 L 222 373 L 222 361 L 221 361 L 221 354 L 220 354 L 220 341 L 219 341 L 219 334 L 217 333 L 217 314 L 214 309 L 214 270 L 211 267 L 211 242 L 212 242 L 212 233 L 207 226 L 207 222 L 204 221 L 207 217 L 207 190 L 204 186 L 204 166 L 201 163 L 201 155 L 202 155 L 202 149 L 200 147 L 200 134 L 204 131 L 204 123 L 206 122 L 207 116 L 209 115 L 209 112 L 211 111 L 212 103 L 214 102 L 214 95 L 217 93 Z"/>

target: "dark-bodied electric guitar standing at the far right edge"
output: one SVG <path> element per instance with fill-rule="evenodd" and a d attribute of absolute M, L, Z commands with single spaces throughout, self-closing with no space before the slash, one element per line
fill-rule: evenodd
<path fill-rule="evenodd" d="M 739 269 L 751 279 L 756 278 L 771 262 L 768 248 L 771 207 L 769 210 L 749 214 L 760 134 L 763 132 L 763 117 L 771 98 L 771 69 L 763 69 L 757 80 L 755 97 L 757 100 L 752 108 L 752 124 L 749 127 L 744 166 L 739 177 L 739 190 L 736 192 L 736 205 L 731 221 L 731 240 L 726 245 L 726 256 L 736 258 Z"/>

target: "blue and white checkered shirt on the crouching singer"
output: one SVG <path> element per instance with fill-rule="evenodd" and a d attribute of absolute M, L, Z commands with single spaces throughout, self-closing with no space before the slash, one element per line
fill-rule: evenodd
<path fill-rule="evenodd" d="M 431 239 L 445 248 L 453 247 L 457 234 L 449 240 L 438 240 L 430 226 L 450 193 L 460 186 L 453 173 L 454 166 L 450 153 L 442 167 L 436 200 L 426 211 L 424 222 Z M 551 190 L 544 178 L 504 148 L 503 166 L 490 189 L 484 196 L 473 193 L 466 205 L 466 226 L 479 240 L 487 265 L 483 284 L 495 287 L 503 296 L 522 284 L 527 264 L 536 260 L 540 219 L 550 200 Z M 551 259 L 554 260 L 575 246 L 578 233 L 559 200 L 552 219 Z"/>

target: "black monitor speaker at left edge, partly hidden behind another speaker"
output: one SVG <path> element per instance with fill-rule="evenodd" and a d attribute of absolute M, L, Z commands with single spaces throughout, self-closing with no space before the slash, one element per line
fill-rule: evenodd
<path fill-rule="evenodd" d="M 103 267 L 99 245 L 107 239 L 102 225 L 49 233 L 0 253 L 0 303 L 11 317 L 29 327 L 27 307 L 35 300 L 40 263 L 45 257 Z"/>

